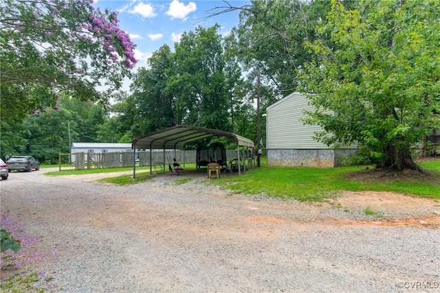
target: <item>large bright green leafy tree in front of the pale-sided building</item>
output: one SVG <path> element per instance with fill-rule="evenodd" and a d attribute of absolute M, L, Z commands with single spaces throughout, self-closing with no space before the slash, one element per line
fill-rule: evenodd
<path fill-rule="evenodd" d="M 300 70 L 327 145 L 360 143 L 382 167 L 418 169 L 412 151 L 439 127 L 440 1 L 332 1 Z"/>

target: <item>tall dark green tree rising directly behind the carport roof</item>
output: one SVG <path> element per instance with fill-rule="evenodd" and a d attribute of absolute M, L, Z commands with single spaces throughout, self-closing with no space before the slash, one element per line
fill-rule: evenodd
<path fill-rule="evenodd" d="M 225 59 L 218 25 L 184 33 L 173 55 L 168 91 L 177 97 L 177 121 L 230 130 Z"/>

